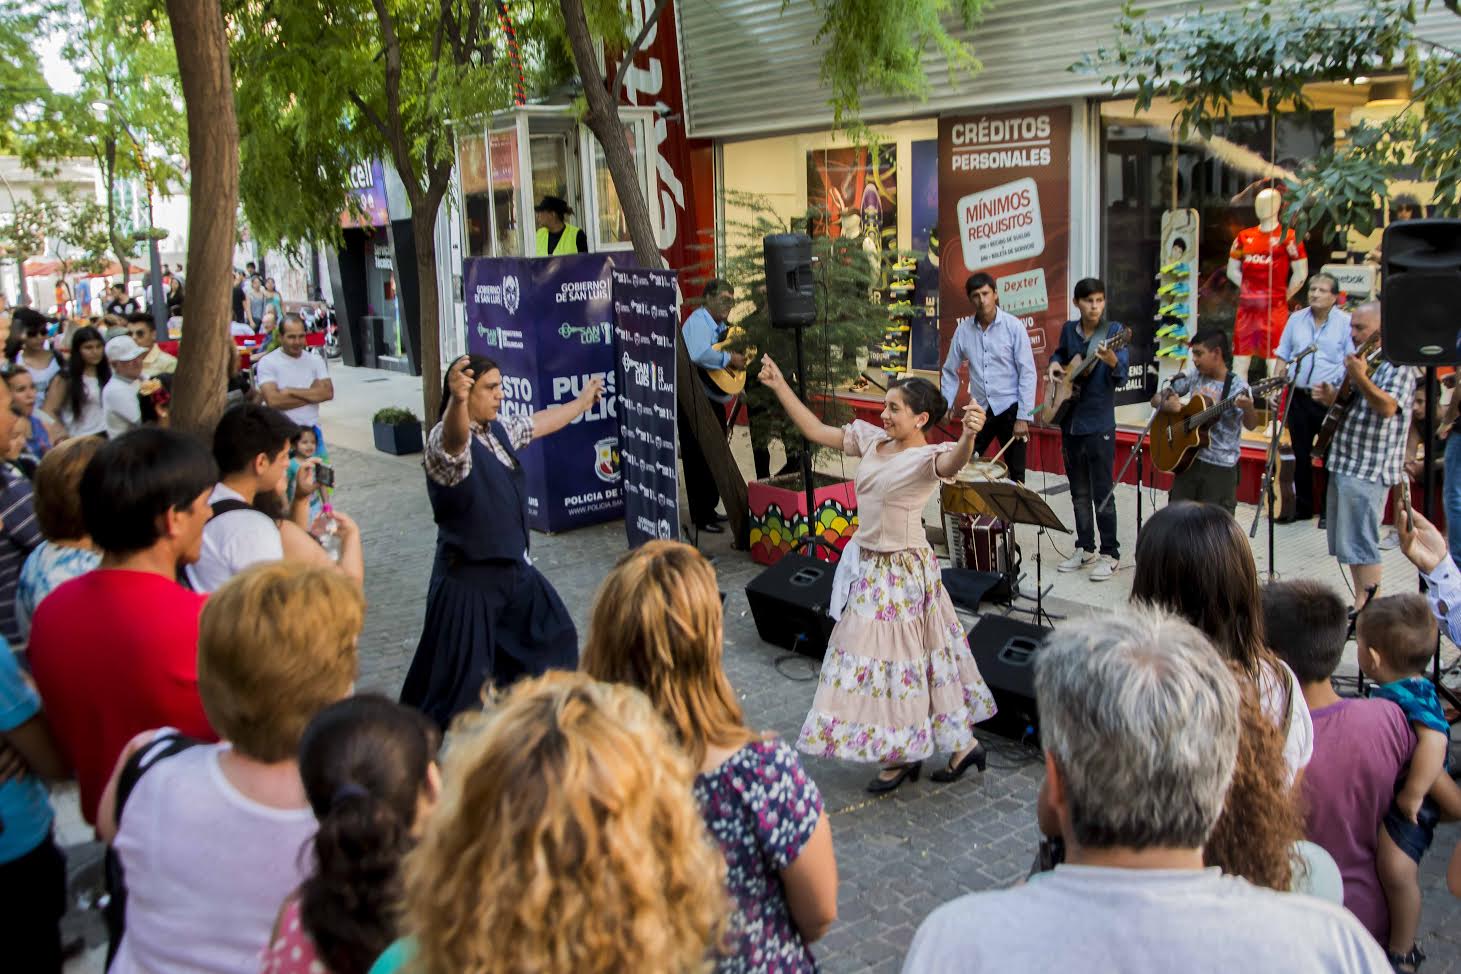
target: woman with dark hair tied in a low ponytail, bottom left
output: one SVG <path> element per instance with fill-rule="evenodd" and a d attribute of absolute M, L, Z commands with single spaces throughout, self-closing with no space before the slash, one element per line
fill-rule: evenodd
<path fill-rule="evenodd" d="M 321 710 L 300 739 L 320 828 L 310 878 L 285 901 L 263 974 L 365 974 L 396 939 L 400 860 L 441 791 L 435 724 L 362 694 Z"/>

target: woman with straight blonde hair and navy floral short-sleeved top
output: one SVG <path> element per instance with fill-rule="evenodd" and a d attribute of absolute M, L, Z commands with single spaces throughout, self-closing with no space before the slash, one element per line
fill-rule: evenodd
<path fill-rule="evenodd" d="M 649 542 L 599 588 L 581 666 L 644 691 L 698 771 L 695 800 L 736 901 L 717 974 L 815 971 L 806 945 L 837 919 L 831 829 L 796 752 L 745 726 L 720 666 L 722 621 L 710 562 Z"/>

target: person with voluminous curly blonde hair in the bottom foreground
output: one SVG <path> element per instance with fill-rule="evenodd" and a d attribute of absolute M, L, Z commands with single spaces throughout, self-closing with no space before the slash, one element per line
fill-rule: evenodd
<path fill-rule="evenodd" d="M 371 974 L 710 968 L 725 863 L 643 694 L 554 672 L 462 723 L 406 857 L 408 939 Z"/>

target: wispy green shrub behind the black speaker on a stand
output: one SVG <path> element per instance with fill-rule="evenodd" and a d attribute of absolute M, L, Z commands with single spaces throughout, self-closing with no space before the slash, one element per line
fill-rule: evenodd
<path fill-rule="evenodd" d="M 796 425 L 787 419 L 776 397 L 757 381 L 760 356 L 770 353 L 776 364 L 792 377 L 796 364 L 795 331 L 771 326 L 766 307 L 766 260 L 761 241 L 768 234 L 805 231 L 814 218 L 806 213 L 792 226 L 773 216 L 768 200 L 732 193 L 728 209 L 745 213 L 726 226 L 732 241 L 725 260 L 725 279 L 735 288 L 736 308 L 730 317 L 745 330 L 745 343 L 758 350 L 748 367 L 747 399 L 758 406 L 757 445 L 780 440 L 787 454 L 804 448 Z M 888 324 L 887 308 L 872 299 L 878 273 L 868 260 L 861 241 L 831 237 L 812 238 L 814 276 L 817 279 L 817 324 L 802 334 L 806 358 L 808 406 L 828 423 L 844 423 L 852 412 L 833 399 L 833 393 L 861 372 L 859 356 L 866 362 L 868 346 L 877 343 Z M 744 317 L 742 317 L 744 315 Z M 795 384 L 795 380 L 793 380 Z M 824 453 L 824 447 L 817 448 Z"/>

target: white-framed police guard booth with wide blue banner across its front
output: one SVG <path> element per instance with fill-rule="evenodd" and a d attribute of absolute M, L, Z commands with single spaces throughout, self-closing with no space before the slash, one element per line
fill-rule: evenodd
<path fill-rule="evenodd" d="M 650 168 L 655 111 L 621 108 L 619 117 L 657 226 Z M 459 350 L 487 355 L 501 367 L 504 415 L 568 402 L 593 378 L 605 384 L 595 409 L 520 451 L 527 524 L 560 532 L 617 520 L 625 510 L 625 480 L 612 275 L 634 257 L 603 150 L 564 105 L 529 105 L 459 123 L 456 149 L 460 216 L 450 241 L 453 260 L 443 263 L 451 266 L 451 291 L 462 302 Z M 573 210 L 567 222 L 583 229 L 587 254 L 538 254 L 533 206 L 545 196 L 567 200 Z M 660 302 L 674 307 L 674 292 Z M 674 345 L 668 348 L 672 352 Z M 672 384 L 669 390 L 671 425 L 660 440 L 668 440 L 672 466 Z"/>

